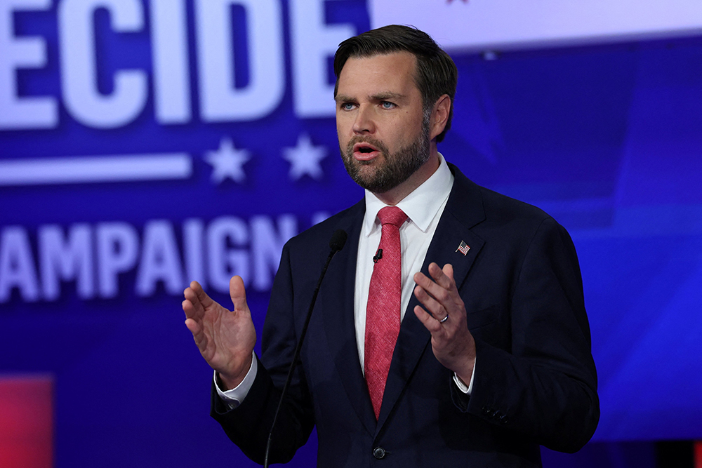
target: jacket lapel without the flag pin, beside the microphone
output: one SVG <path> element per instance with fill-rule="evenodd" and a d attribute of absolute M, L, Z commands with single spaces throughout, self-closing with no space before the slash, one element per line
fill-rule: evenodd
<path fill-rule="evenodd" d="M 343 220 L 338 225 L 348 233 L 346 246 L 336 254 L 327 271 L 324 283 L 324 330 L 329 343 L 329 351 L 336 364 L 348 399 L 369 434 L 376 430 L 376 415 L 363 377 L 363 370 L 358 358 L 356 345 L 356 326 L 354 323 L 354 294 L 356 284 L 356 263 L 358 241 L 361 235 L 365 204 L 355 210 L 355 215 Z M 331 267 L 336 263 L 336 266 Z"/>

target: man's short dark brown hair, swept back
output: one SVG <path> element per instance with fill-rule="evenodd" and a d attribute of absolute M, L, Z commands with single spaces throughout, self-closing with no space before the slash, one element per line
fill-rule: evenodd
<path fill-rule="evenodd" d="M 400 25 L 383 26 L 346 39 L 339 44 L 334 55 L 334 74 L 336 74 L 334 97 L 336 98 L 339 75 L 346 60 L 401 51 L 409 52 L 416 57 L 417 70 L 414 80 L 422 95 L 425 114 L 431 112 L 442 95 L 447 94 L 451 98 L 449 119 L 446 120 L 444 131 L 437 135 L 437 142 L 441 142 L 444 140 L 446 131 L 451 128 L 458 70 L 449 54 L 444 52 L 429 34 L 419 29 Z"/>

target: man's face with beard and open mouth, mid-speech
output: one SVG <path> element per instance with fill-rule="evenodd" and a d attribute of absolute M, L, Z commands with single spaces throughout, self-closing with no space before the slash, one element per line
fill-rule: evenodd
<path fill-rule="evenodd" d="M 415 69 L 414 56 L 398 52 L 350 58 L 339 75 L 341 157 L 351 178 L 376 194 L 402 184 L 429 159 L 429 116 Z"/>

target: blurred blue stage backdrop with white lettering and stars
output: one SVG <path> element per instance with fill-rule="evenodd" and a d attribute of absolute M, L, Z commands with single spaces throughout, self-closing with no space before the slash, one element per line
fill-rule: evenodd
<path fill-rule="evenodd" d="M 182 291 L 240 274 L 260 330 L 283 243 L 363 195 L 333 53 L 392 23 L 458 65 L 439 151 L 576 244 L 602 417 L 545 467 L 702 467 L 699 0 L 0 0 L 0 467 L 253 466 Z"/>

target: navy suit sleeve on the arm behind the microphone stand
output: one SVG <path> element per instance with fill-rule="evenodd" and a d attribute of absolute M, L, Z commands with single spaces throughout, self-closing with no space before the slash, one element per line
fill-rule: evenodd
<path fill-rule="evenodd" d="M 263 327 L 263 356 L 268 367 L 258 361 L 256 379 L 237 408 L 228 408 L 214 387 L 211 396 L 211 416 L 247 457 L 260 464 L 263 464 L 268 434 L 297 343 L 289 259 L 286 244 Z M 276 422 L 270 462 L 289 462 L 296 450 L 307 442 L 313 426 L 310 392 L 298 365 Z"/>

